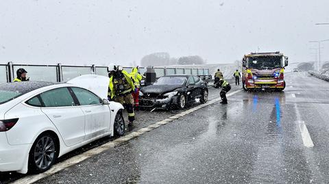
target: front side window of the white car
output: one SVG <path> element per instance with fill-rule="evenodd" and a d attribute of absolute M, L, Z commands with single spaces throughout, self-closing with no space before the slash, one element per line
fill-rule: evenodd
<path fill-rule="evenodd" d="M 75 96 L 77 96 L 80 105 L 95 105 L 101 103 L 101 99 L 88 90 L 82 88 L 72 88 L 72 90 Z"/>

